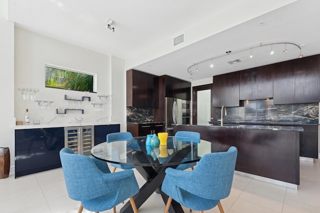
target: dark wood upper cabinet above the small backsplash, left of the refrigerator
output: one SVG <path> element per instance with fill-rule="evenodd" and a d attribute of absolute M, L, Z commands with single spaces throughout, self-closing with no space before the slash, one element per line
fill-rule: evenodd
<path fill-rule="evenodd" d="M 153 107 L 153 80 L 156 75 L 126 71 L 126 106 Z"/>

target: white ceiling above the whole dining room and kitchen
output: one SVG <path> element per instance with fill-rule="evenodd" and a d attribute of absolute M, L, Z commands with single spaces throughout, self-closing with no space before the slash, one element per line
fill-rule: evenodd
<path fill-rule="evenodd" d="M 156 75 L 189 80 L 187 68 L 198 65 L 193 80 L 297 58 L 299 49 L 284 44 L 248 49 L 260 43 L 292 42 L 304 56 L 320 53 L 319 0 L 8 0 L 8 19 L 15 25 L 107 55 L 132 60 L 157 52 L 161 41 L 185 32 L 181 47 L 161 49 L 132 67 Z M 115 31 L 105 28 L 114 21 Z M 263 25 L 259 22 L 263 21 Z M 207 24 L 209 23 L 209 24 Z M 190 39 L 188 39 L 190 38 Z M 230 65 L 226 61 L 239 58 Z M 141 62 L 142 61 L 142 62 Z"/>

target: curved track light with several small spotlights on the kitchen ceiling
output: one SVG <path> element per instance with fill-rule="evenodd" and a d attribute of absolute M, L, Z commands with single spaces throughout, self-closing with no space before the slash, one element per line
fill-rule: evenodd
<path fill-rule="evenodd" d="M 300 54 L 299 54 L 298 57 L 299 57 L 299 58 L 303 57 L 303 54 L 301 53 L 301 46 L 300 46 L 300 45 L 297 45 L 297 44 L 295 44 L 295 43 L 290 43 L 290 42 L 277 42 L 277 43 L 267 43 L 267 44 L 262 44 L 262 43 L 260 43 L 260 44 L 257 45 L 257 46 L 253 46 L 253 47 L 251 46 L 250 48 L 240 49 L 240 50 L 237 50 L 237 51 L 232 51 L 232 52 L 231 52 L 231 50 L 227 50 L 227 51 L 225 51 L 226 54 L 222 54 L 222 55 L 219 55 L 219 56 L 216 56 L 216 57 L 211 57 L 211 58 L 209 58 L 209 59 L 202 60 L 202 61 L 197 62 L 197 63 L 193 63 L 191 66 L 189 66 L 189 67 L 187 68 L 187 72 L 191 75 L 190 80 L 192 80 L 192 71 L 191 71 L 191 68 L 196 65 L 196 69 L 195 69 L 195 70 L 196 70 L 196 71 L 199 71 L 199 69 L 198 69 L 198 64 L 199 64 L 199 63 L 203 63 L 203 62 L 206 62 L 206 61 L 209 61 L 209 60 L 210 60 L 210 61 L 211 61 L 210 67 L 213 67 L 212 61 L 213 61 L 214 59 L 220 58 L 220 57 L 223 57 L 223 56 L 226 56 L 226 55 L 230 55 L 230 54 L 242 52 L 242 51 L 247 51 L 247 50 L 250 50 L 250 55 L 249 55 L 249 57 L 252 58 L 252 57 L 253 57 L 252 49 L 258 48 L 258 47 L 262 47 L 262 46 L 271 46 L 270 54 L 273 54 L 273 53 L 274 53 L 274 51 L 273 51 L 273 45 L 277 45 L 277 44 L 284 44 L 284 50 L 283 50 L 284 53 L 287 53 L 287 52 L 288 52 L 287 49 L 286 49 L 286 44 L 290 44 L 290 45 L 296 46 L 296 47 L 298 47 L 299 50 L 300 50 Z M 302 45 L 302 44 L 301 44 L 301 45 Z M 236 60 L 239 60 L 239 59 L 236 59 Z M 241 61 L 241 60 L 239 60 L 239 61 Z M 231 63 L 231 64 L 233 64 L 233 63 Z"/>

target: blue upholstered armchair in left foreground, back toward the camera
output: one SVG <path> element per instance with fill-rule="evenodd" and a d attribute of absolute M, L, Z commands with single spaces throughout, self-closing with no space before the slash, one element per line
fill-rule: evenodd
<path fill-rule="evenodd" d="M 104 211 L 129 198 L 133 212 L 137 212 L 133 195 L 139 186 L 131 169 L 110 173 L 106 162 L 88 157 L 64 147 L 60 159 L 66 189 L 71 199 L 81 201 L 78 212 L 83 207 L 89 211 Z"/>

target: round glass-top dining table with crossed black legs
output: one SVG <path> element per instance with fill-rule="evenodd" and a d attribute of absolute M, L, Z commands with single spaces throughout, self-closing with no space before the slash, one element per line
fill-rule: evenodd
<path fill-rule="evenodd" d="M 139 208 L 155 191 L 161 194 L 164 205 L 168 196 L 161 191 L 161 184 L 167 167 L 199 161 L 201 156 L 217 152 L 215 145 L 206 140 L 188 137 L 168 136 L 166 145 L 152 147 L 145 144 L 146 136 L 130 140 L 102 142 L 92 147 L 91 154 L 97 159 L 110 163 L 132 165 L 145 179 L 137 194 L 133 196 Z M 128 201 L 120 212 L 132 212 Z M 172 200 L 169 212 L 183 212 L 179 203 Z"/>

